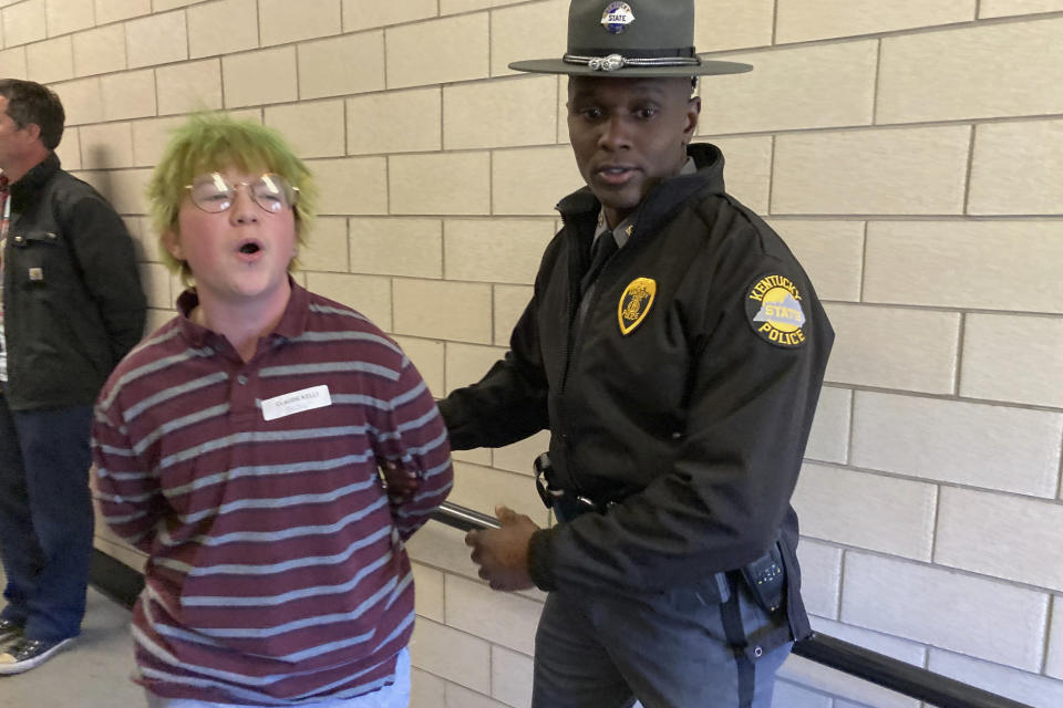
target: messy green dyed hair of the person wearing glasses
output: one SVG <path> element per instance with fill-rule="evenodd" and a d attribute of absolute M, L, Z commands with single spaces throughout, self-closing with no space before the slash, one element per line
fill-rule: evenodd
<path fill-rule="evenodd" d="M 205 173 L 228 168 L 241 171 L 276 173 L 299 188 L 296 204 L 296 239 L 302 244 L 316 215 L 318 189 L 310 170 L 296 157 L 288 142 L 272 128 L 252 121 L 237 121 L 220 113 L 197 113 L 174 131 L 166 152 L 147 185 L 152 226 L 159 239 L 177 232 L 177 214 L 185 187 Z M 165 243 L 163 260 L 174 272 L 190 281 L 188 264 L 178 261 Z M 289 268 L 292 268 L 289 266 Z"/>

